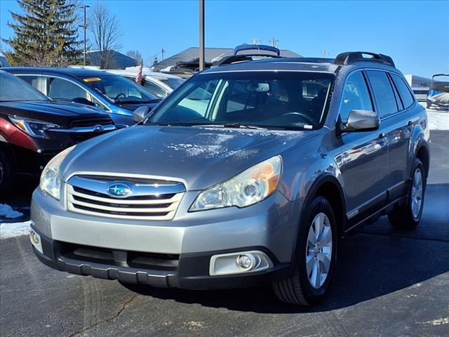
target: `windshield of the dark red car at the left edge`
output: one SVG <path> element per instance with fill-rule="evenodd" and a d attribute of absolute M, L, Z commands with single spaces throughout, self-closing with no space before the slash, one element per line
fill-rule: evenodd
<path fill-rule="evenodd" d="M 24 100 L 45 101 L 49 99 L 40 91 L 7 72 L 0 72 L 0 102 L 18 102 Z"/>

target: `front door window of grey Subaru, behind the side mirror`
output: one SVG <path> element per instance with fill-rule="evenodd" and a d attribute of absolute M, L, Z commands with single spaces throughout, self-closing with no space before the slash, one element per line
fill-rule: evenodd
<path fill-rule="evenodd" d="M 351 110 L 374 110 L 362 72 L 354 72 L 354 74 L 349 75 L 346 84 L 344 84 L 340 108 L 340 117 L 343 123 L 348 120 Z"/>

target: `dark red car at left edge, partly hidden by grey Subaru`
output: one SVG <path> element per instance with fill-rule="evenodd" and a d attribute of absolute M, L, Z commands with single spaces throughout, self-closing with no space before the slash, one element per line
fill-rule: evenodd
<path fill-rule="evenodd" d="M 12 187 L 15 175 L 37 178 L 58 152 L 115 129 L 102 110 L 52 102 L 0 70 L 0 194 Z"/>

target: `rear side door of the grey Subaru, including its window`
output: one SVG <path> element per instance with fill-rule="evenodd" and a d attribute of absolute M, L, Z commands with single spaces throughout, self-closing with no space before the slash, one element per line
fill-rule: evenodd
<path fill-rule="evenodd" d="M 373 91 L 382 132 L 387 136 L 389 162 L 385 178 L 390 201 L 405 194 L 405 171 L 408 162 L 408 142 L 411 135 L 408 119 L 403 113 L 403 103 L 388 72 L 367 70 Z M 408 175 L 410 176 L 410 175 Z"/>

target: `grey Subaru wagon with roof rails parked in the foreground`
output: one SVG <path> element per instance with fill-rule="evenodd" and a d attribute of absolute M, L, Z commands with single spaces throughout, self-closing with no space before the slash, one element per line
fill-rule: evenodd
<path fill-rule="evenodd" d="M 340 237 L 384 214 L 420 222 L 428 141 L 426 111 L 386 55 L 229 59 L 138 125 L 49 163 L 32 199 L 34 253 L 130 288 L 273 284 L 312 305 Z"/>

